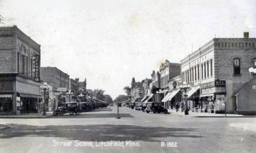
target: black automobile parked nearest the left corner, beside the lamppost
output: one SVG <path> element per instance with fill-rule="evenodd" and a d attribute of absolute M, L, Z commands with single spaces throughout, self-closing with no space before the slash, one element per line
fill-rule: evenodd
<path fill-rule="evenodd" d="M 79 115 L 81 112 L 81 109 L 79 107 L 79 102 L 65 102 L 62 103 L 60 107 L 57 107 L 53 114 L 55 116 L 57 115 L 63 115 L 66 113 L 69 113 L 70 115 Z"/>

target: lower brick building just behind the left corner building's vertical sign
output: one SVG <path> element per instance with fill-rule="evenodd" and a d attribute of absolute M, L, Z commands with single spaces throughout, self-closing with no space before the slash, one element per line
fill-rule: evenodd
<path fill-rule="evenodd" d="M 56 67 L 41 67 L 40 77 L 42 81 L 53 84 L 53 90 L 57 104 L 61 102 L 67 102 L 69 96 L 66 95 L 66 91 L 69 89 L 69 75 L 61 71 Z M 66 88 L 66 91 L 59 92 L 57 88 Z"/>

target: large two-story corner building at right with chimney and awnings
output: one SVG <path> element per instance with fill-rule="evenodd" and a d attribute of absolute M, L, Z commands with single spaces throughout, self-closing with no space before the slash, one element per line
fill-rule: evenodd
<path fill-rule="evenodd" d="M 190 86 L 186 93 L 192 107 L 202 111 L 248 114 L 256 112 L 255 101 L 247 105 L 235 101 L 241 87 L 253 76 L 248 71 L 256 58 L 256 38 L 214 38 L 181 60 L 182 82 Z M 255 95 L 255 94 L 254 94 Z M 240 108 L 243 107 L 243 111 Z M 251 110 L 251 108 L 254 110 Z M 237 111 L 238 110 L 238 111 Z"/>

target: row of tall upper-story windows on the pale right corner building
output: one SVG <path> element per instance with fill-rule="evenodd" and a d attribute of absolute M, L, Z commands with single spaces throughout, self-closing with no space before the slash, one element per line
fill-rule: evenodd
<path fill-rule="evenodd" d="M 200 77 L 201 76 L 201 77 Z M 207 60 L 204 63 L 190 67 L 182 72 L 183 82 L 194 82 L 200 79 L 206 79 L 213 76 L 213 60 Z"/>

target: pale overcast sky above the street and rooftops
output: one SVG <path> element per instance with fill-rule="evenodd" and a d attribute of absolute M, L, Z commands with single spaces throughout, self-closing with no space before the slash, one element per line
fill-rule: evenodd
<path fill-rule="evenodd" d="M 150 78 L 165 59 L 179 63 L 215 36 L 256 37 L 256 1 L 0 0 L 4 25 L 41 45 L 41 65 L 113 98 Z"/>

